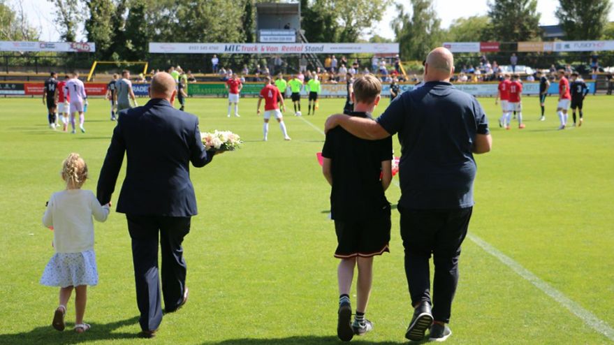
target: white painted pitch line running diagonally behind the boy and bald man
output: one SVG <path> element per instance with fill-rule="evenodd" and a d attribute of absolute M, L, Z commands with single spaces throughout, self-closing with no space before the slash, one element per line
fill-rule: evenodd
<path fill-rule="evenodd" d="M 312 124 L 311 122 L 307 121 L 306 119 L 303 119 L 302 117 L 300 117 L 300 119 L 309 124 L 309 126 L 312 126 L 316 131 L 322 133 L 322 135 L 325 135 L 324 131 L 314 126 L 314 124 Z M 400 186 L 399 182 L 397 182 L 397 180 L 395 179 L 393 179 L 393 184 L 395 184 L 396 186 Z M 495 256 L 495 258 L 497 258 L 499 261 L 504 263 L 504 265 L 516 272 L 516 274 L 518 274 L 520 277 L 522 277 L 526 281 L 529 281 L 529 283 L 533 284 L 536 288 L 539 288 L 541 292 L 546 293 L 546 295 L 550 296 L 550 298 L 561 304 L 567 310 L 571 311 L 571 314 L 576 315 L 590 328 L 597 331 L 598 333 L 601 333 L 602 335 L 605 335 L 608 339 L 614 342 L 614 328 L 612 328 L 611 325 L 608 325 L 606 321 L 601 320 L 595 314 L 592 314 L 587 309 L 584 309 L 582 306 L 580 306 L 580 304 L 573 302 L 573 300 L 569 299 L 562 292 L 550 286 L 550 284 L 546 283 L 546 281 L 541 280 L 531 271 L 527 270 L 525 267 L 522 267 L 522 265 L 520 265 L 520 263 L 518 263 L 516 260 L 510 258 L 509 256 L 506 256 L 501 251 L 499 251 L 499 249 L 492 247 L 490 243 L 486 242 L 485 240 L 482 240 L 480 237 L 472 233 L 467 233 L 467 237 L 469 237 L 469 240 L 472 240 L 472 242 L 477 244 L 478 247 L 483 249 L 483 251 L 492 256 Z"/>

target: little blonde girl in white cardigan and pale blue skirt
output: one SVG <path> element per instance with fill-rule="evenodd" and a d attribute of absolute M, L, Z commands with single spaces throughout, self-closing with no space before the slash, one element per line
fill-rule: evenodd
<path fill-rule="evenodd" d="M 110 204 L 101 206 L 92 191 L 80 189 L 87 179 L 87 165 L 78 154 L 69 154 L 64 160 L 61 176 L 66 190 L 52 194 L 43 216 L 43 225 L 54 230 L 55 254 L 45 267 L 41 284 L 60 287 L 59 307 L 52 322 L 59 331 L 66 327 L 66 303 L 75 289 L 75 331 L 82 333 L 90 328 L 83 323 L 87 286 L 98 284 L 92 215 L 97 221 L 105 221 Z"/>

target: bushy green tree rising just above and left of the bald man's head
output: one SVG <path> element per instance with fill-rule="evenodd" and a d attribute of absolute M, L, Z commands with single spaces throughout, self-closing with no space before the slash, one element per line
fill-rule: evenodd
<path fill-rule="evenodd" d="M 404 11 L 400 3 L 397 17 L 390 24 L 400 45 L 404 60 L 422 60 L 434 47 L 441 45 L 441 20 L 437 17 L 431 1 L 411 0 L 413 13 Z"/>

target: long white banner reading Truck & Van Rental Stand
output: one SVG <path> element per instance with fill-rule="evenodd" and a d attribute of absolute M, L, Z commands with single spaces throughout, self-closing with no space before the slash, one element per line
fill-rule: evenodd
<path fill-rule="evenodd" d="M 479 43 L 478 43 L 479 51 Z M 396 54 L 399 43 L 149 43 L 150 53 L 166 54 Z"/>

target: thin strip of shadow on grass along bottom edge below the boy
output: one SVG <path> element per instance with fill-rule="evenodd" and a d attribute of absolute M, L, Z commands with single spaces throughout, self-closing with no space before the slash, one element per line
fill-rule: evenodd
<path fill-rule="evenodd" d="M 354 337 L 351 344 L 377 344 L 377 345 L 393 345 L 405 344 L 407 341 L 399 340 L 398 342 L 373 342 L 368 339 Z M 423 344 L 424 342 L 411 342 L 411 344 Z M 350 344 L 342 343 L 337 337 L 319 337 L 315 335 L 297 335 L 295 337 L 277 338 L 277 339 L 229 339 L 223 342 L 204 342 L 202 345 L 304 345 L 304 344 Z"/>

